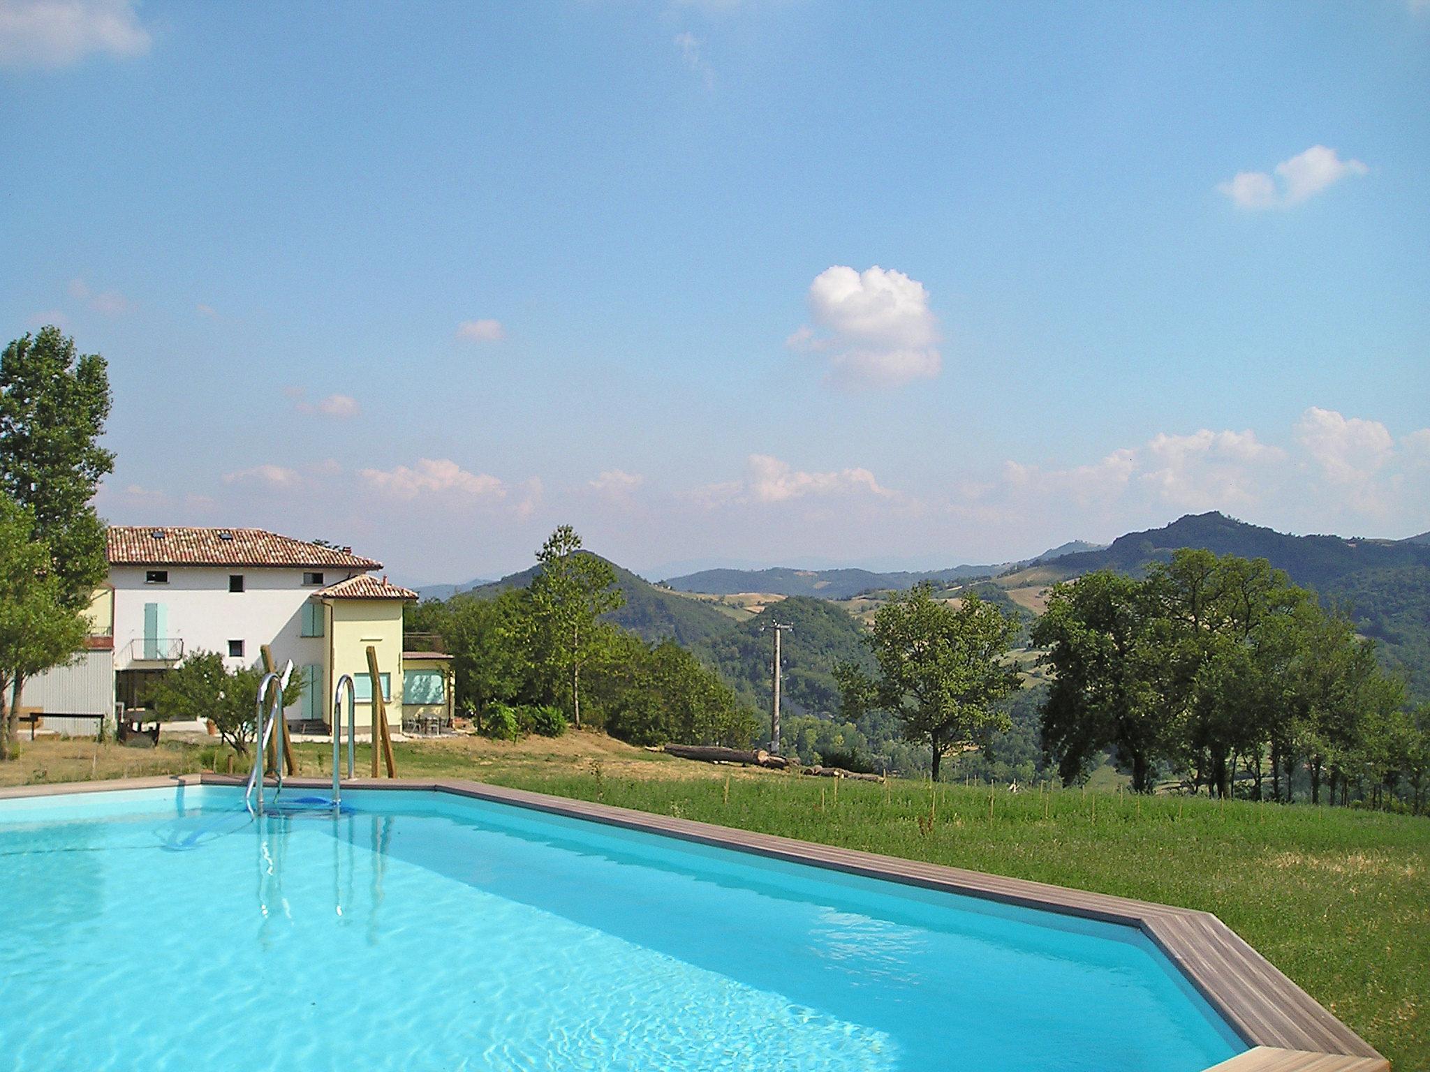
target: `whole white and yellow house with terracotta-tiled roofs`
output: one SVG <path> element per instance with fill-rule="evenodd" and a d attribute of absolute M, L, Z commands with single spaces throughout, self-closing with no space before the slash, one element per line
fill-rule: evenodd
<path fill-rule="evenodd" d="M 372 576 L 380 562 L 263 529 L 110 526 L 109 563 L 90 650 L 26 685 L 21 706 L 50 728 L 72 730 L 66 715 L 92 713 L 82 703 L 99 706 L 93 713 L 146 706 L 154 682 L 196 652 L 237 669 L 260 665 L 265 645 L 277 666 L 292 659 L 303 675 L 289 720 L 327 722 L 333 683 L 347 673 L 358 722 L 370 726 L 373 647 L 389 718 L 400 725 L 402 607 L 416 593 Z M 450 710 L 443 659 L 413 655 L 412 700 L 423 713 Z"/>

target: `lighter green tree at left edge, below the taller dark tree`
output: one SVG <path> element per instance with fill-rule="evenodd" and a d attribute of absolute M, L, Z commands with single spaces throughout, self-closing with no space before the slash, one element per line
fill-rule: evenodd
<path fill-rule="evenodd" d="M 0 759 L 14 756 L 20 686 L 83 645 L 83 615 L 66 606 L 34 515 L 0 490 Z M 7 703 L 9 695 L 9 703 Z"/>

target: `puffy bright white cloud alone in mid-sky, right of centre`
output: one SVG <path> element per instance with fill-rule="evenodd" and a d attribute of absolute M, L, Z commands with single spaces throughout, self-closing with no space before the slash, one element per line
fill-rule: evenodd
<path fill-rule="evenodd" d="M 785 344 L 824 354 L 837 383 L 898 387 L 942 367 L 928 292 L 902 272 L 825 269 L 809 284 L 809 314 L 818 330 L 799 327 Z"/>

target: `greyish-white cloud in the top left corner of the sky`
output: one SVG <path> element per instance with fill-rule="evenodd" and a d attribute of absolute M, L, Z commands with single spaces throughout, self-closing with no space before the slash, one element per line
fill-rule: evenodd
<path fill-rule="evenodd" d="M 0 0 L 0 67 L 67 67 L 149 46 L 133 0 Z"/>

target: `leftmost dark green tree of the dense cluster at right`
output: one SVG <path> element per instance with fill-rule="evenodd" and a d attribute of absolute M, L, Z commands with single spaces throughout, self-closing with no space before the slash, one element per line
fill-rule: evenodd
<path fill-rule="evenodd" d="M 1167 735 L 1158 689 L 1160 652 L 1145 587 L 1111 570 L 1055 585 L 1032 640 L 1052 672 L 1042 708 L 1042 746 L 1064 783 L 1111 748 L 1150 793 Z"/>

